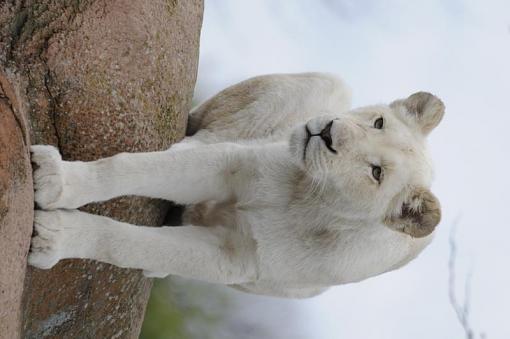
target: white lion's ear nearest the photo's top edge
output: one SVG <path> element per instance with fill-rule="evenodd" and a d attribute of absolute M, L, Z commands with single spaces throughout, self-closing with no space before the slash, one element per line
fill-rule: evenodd
<path fill-rule="evenodd" d="M 427 135 L 441 122 L 444 104 L 433 94 L 417 92 L 407 99 L 394 101 L 390 106 L 402 105 L 416 122 L 422 133 Z"/>

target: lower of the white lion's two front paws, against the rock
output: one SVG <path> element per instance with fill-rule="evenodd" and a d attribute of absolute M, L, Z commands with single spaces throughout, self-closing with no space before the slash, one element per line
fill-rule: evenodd
<path fill-rule="evenodd" d="M 65 241 L 61 228 L 61 211 L 35 211 L 34 234 L 28 254 L 28 263 L 32 266 L 48 269 L 62 258 L 62 246 Z"/>

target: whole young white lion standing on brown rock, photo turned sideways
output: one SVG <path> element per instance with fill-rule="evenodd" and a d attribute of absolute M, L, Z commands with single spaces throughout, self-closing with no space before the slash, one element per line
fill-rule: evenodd
<path fill-rule="evenodd" d="M 29 263 L 89 258 L 295 298 L 399 268 L 440 220 L 425 138 L 444 106 L 424 92 L 349 106 L 334 76 L 266 75 L 191 112 L 188 137 L 166 151 L 68 162 L 33 146 L 44 210 Z M 122 195 L 184 204 L 186 226 L 75 210 Z"/>

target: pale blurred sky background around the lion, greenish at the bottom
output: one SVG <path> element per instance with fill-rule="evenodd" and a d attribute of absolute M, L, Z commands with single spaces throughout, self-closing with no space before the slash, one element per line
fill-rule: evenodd
<path fill-rule="evenodd" d="M 510 2 L 206 0 L 197 103 L 304 71 L 343 77 L 354 106 L 442 98 L 435 240 L 398 271 L 307 300 L 157 280 L 141 338 L 510 338 Z"/>

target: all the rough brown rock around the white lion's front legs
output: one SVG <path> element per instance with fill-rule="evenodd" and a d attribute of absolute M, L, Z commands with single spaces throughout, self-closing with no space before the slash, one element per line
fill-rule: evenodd
<path fill-rule="evenodd" d="M 94 160 L 182 138 L 202 10 L 202 0 L 0 2 L 1 338 L 138 336 L 151 287 L 140 272 L 66 260 L 25 276 L 33 216 L 27 145 Z M 86 210 L 158 225 L 167 207 L 125 197 Z"/>

